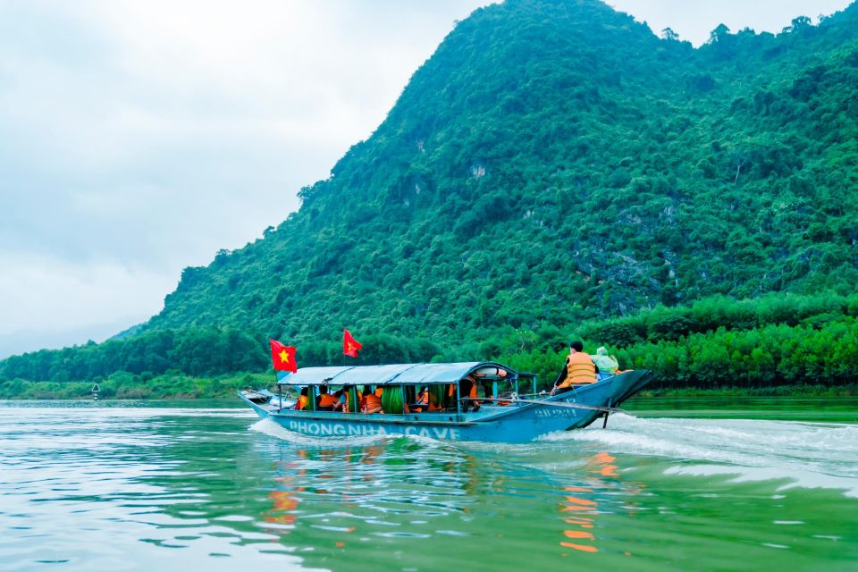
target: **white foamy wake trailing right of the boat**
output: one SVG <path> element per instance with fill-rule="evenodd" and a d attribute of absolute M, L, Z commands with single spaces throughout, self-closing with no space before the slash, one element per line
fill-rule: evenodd
<path fill-rule="evenodd" d="M 610 416 L 609 427 L 551 433 L 549 442 L 589 442 L 616 453 L 684 461 L 670 475 L 736 475 L 739 481 L 785 480 L 858 497 L 858 425 L 753 419 Z"/>

